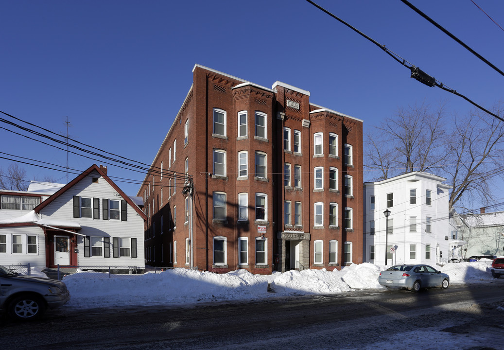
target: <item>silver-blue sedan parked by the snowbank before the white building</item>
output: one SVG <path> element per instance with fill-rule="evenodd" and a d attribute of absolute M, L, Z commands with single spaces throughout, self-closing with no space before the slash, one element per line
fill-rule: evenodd
<path fill-rule="evenodd" d="M 420 288 L 448 288 L 450 276 L 429 265 L 394 265 L 380 272 L 378 282 L 389 287 L 403 287 L 412 291 Z"/>

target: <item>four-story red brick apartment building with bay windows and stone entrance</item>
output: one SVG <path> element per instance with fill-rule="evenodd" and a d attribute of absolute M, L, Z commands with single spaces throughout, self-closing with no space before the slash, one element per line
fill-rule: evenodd
<path fill-rule="evenodd" d="M 213 272 L 362 262 L 362 121 L 200 65 L 152 162 L 147 264 Z"/>

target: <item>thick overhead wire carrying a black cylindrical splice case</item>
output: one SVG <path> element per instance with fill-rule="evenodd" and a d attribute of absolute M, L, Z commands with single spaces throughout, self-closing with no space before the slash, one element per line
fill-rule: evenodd
<path fill-rule="evenodd" d="M 313 5 L 314 7 L 316 7 L 318 9 L 324 11 L 326 14 L 328 14 L 329 16 L 331 16 L 332 18 L 334 18 L 335 20 L 343 23 L 348 28 L 350 28 L 353 31 L 355 31 L 357 34 L 359 34 L 359 35 L 363 36 L 364 38 L 366 38 L 367 40 L 371 41 L 373 44 L 375 44 L 376 46 L 378 46 L 381 49 L 383 49 L 386 53 L 388 53 L 394 60 L 396 60 L 397 62 L 399 62 L 401 65 L 403 65 L 404 67 L 409 68 L 410 71 L 411 71 L 411 78 L 415 78 L 416 80 L 418 80 L 419 82 L 421 82 L 421 83 L 423 83 L 423 84 L 425 84 L 427 86 L 430 86 L 430 87 L 437 86 L 440 89 L 443 89 L 445 91 L 451 92 L 451 93 L 453 93 L 453 94 L 455 94 L 455 95 L 457 95 L 459 97 L 462 97 L 467 102 L 471 103 L 472 105 L 476 106 L 477 108 L 483 110 L 484 112 L 486 112 L 486 113 L 494 116 L 498 120 L 504 122 L 504 119 L 502 119 L 499 115 L 490 112 L 488 109 L 480 106 L 479 104 L 477 104 L 476 102 L 472 101 L 468 97 L 466 97 L 466 96 L 458 93 L 456 90 L 453 90 L 453 89 L 449 88 L 448 86 L 446 86 L 442 82 L 440 82 L 440 81 L 434 79 L 433 77 L 427 75 L 426 73 L 422 72 L 420 69 L 418 69 L 418 67 L 413 66 L 411 63 L 409 63 L 408 61 L 406 61 L 405 59 L 403 59 L 397 53 L 389 50 L 385 45 L 380 44 L 376 40 L 374 40 L 374 39 L 370 38 L 369 36 L 367 36 L 366 34 L 362 33 L 360 30 L 356 29 L 355 27 L 352 27 L 350 24 L 348 24 L 347 22 L 343 21 L 341 18 L 337 17 L 336 15 L 332 14 L 331 12 L 327 11 L 323 7 L 317 5 L 316 3 L 312 2 L 311 0 L 306 0 L 306 1 L 308 3 L 310 3 L 311 5 Z"/>

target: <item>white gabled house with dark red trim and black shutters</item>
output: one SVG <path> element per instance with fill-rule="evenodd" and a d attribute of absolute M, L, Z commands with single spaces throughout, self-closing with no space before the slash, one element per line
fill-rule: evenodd
<path fill-rule="evenodd" d="M 2 265 L 145 266 L 141 199 L 126 196 L 106 167 L 92 165 L 67 185 L 0 195 Z"/>

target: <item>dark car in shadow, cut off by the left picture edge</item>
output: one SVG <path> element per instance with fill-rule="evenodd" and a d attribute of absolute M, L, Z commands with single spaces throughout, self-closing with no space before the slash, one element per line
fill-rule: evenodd
<path fill-rule="evenodd" d="M 54 309 L 70 300 L 65 283 L 23 276 L 0 266 L 0 310 L 17 320 L 33 320 L 45 309 Z"/>

